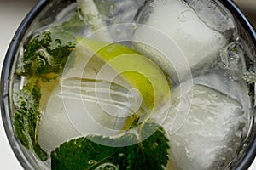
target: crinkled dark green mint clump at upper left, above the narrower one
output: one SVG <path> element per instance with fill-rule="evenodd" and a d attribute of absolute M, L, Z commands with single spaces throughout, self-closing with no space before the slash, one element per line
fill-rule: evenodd
<path fill-rule="evenodd" d="M 60 34 L 62 33 L 62 38 Z M 44 31 L 28 42 L 22 64 L 15 72 L 18 76 L 40 77 L 46 80 L 60 73 L 75 47 L 75 38 L 65 32 Z M 65 36 L 67 35 L 67 36 Z M 68 37 L 68 38 L 67 38 Z M 64 39 L 66 39 L 64 41 Z M 49 73 L 51 77 L 49 77 Z"/>

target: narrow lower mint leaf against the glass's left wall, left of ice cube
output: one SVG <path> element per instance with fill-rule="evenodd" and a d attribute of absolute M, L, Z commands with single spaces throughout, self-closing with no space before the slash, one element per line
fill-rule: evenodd
<path fill-rule="evenodd" d="M 31 78 L 26 82 L 26 86 L 20 90 L 18 105 L 15 111 L 14 125 L 16 136 L 29 150 L 32 150 L 38 158 L 46 161 L 47 153 L 38 145 L 36 129 L 40 122 L 39 99 L 41 97 L 38 80 Z"/>

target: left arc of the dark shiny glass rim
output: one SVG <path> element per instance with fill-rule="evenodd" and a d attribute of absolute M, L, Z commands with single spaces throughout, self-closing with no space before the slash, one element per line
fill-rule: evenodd
<path fill-rule="evenodd" d="M 0 101 L 1 101 L 1 115 L 3 121 L 3 127 L 6 133 L 6 136 L 9 140 L 9 145 L 11 146 L 17 160 L 20 162 L 21 167 L 24 169 L 34 170 L 32 162 L 27 160 L 27 157 L 24 155 L 22 149 L 23 145 L 20 142 L 17 142 L 15 137 L 15 130 L 12 125 L 11 118 L 11 108 L 9 105 L 9 77 L 11 75 L 12 67 L 14 65 L 15 54 L 19 48 L 19 43 L 22 40 L 22 37 L 26 34 L 29 26 L 31 26 L 33 20 L 36 19 L 37 15 L 44 9 L 44 7 L 49 3 L 48 0 L 40 0 L 27 14 L 26 17 L 20 23 L 15 35 L 12 38 L 12 41 L 9 44 L 7 53 L 3 61 L 3 68 L 1 73 L 1 88 L 0 88 Z"/>

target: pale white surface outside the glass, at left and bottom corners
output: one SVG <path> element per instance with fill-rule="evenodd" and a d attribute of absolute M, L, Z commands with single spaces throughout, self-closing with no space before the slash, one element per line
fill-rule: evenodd
<path fill-rule="evenodd" d="M 2 70 L 3 59 L 6 54 L 9 42 L 15 34 L 21 20 L 29 12 L 37 0 L 0 0 L 0 65 Z M 0 169 L 3 170 L 22 170 L 20 163 L 15 158 L 9 146 L 3 130 L 3 122 L 0 120 Z M 256 169 L 256 161 L 249 170 Z"/>

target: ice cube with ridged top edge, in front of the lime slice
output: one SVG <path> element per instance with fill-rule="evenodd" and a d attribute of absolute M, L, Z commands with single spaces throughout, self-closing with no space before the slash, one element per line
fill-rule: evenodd
<path fill-rule="evenodd" d="M 98 96 L 90 80 L 68 79 L 55 87 L 39 126 L 42 148 L 53 150 L 68 139 L 88 134 L 116 135 L 129 124 L 133 113 L 129 101 L 134 97 L 118 86 L 109 92 L 108 82 L 96 83 Z"/>

